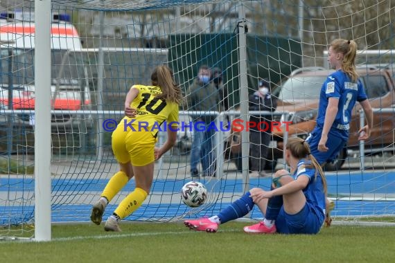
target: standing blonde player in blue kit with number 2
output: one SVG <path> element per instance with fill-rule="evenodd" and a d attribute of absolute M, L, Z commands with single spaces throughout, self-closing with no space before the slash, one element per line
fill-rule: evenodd
<path fill-rule="evenodd" d="M 328 75 L 319 95 L 317 124 L 306 138 L 311 154 L 320 165 L 335 160 L 349 138 L 351 112 L 356 102 L 365 111 L 367 125 L 358 131 L 359 140 L 367 140 L 373 127 L 373 111 L 356 72 L 357 44 L 353 40 L 335 39 L 328 50 L 328 62 L 335 73 Z M 333 203 L 327 201 L 327 212 Z M 326 215 L 326 225 L 331 225 Z"/>

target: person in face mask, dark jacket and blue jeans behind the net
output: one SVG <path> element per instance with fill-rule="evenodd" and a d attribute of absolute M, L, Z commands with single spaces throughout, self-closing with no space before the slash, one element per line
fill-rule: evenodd
<path fill-rule="evenodd" d="M 222 111 L 220 94 L 211 82 L 211 70 L 200 66 L 198 76 L 187 90 L 188 111 Z M 202 163 L 203 176 L 215 176 L 214 131 L 208 129 L 216 116 L 198 114 L 193 116 L 193 141 L 191 148 L 191 176 L 199 176 L 198 165 Z M 199 129 L 195 129 L 198 126 Z M 204 127 L 205 126 L 205 127 Z"/>

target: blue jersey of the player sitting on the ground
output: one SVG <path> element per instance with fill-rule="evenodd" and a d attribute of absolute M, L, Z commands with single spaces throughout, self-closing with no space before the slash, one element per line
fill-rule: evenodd
<path fill-rule="evenodd" d="M 325 215 L 325 192 L 324 185 L 322 183 L 322 177 L 317 172 L 317 178 L 315 178 L 315 169 L 306 167 L 310 166 L 310 162 L 302 159 L 297 164 L 297 170 L 292 174 L 296 180 L 299 176 L 308 176 L 308 185 L 304 188 L 303 193 L 306 197 L 306 202 L 317 212 L 317 215 L 322 216 L 324 219 Z"/>

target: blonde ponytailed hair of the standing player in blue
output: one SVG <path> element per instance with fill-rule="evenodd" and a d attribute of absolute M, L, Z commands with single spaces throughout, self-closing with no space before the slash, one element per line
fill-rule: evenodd
<path fill-rule="evenodd" d="M 356 72 L 356 42 L 353 40 L 335 39 L 331 43 L 331 47 L 335 53 L 342 53 L 344 55 L 342 70 L 349 75 L 353 82 L 356 82 L 358 80 L 358 73 Z"/>

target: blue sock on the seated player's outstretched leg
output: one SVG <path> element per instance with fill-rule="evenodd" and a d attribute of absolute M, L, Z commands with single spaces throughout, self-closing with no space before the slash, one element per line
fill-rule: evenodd
<path fill-rule="evenodd" d="M 254 201 L 249 197 L 250 195 L 249 192 L 246 192 L 243 197 L 240 197 L 240 199 L 234 201 L 230 206 L 222 210 L 218 215 L 221 224 L 247 215 L 249 211 L 254 208 Z"/>

